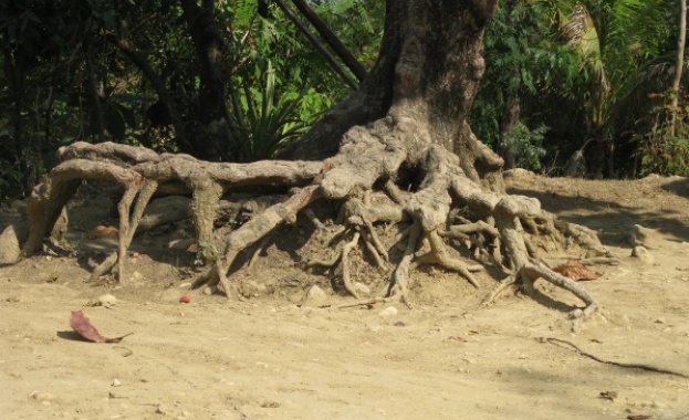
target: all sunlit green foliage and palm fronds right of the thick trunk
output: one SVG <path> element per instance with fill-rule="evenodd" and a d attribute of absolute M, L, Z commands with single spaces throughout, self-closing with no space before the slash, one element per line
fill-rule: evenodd
<path fill-rule="evenodd" d="M 509 105 L 518 103 L 528 126 L 551 127 L 543 139 L 549 159 L 564 159 L 597 137 L 616 144 L 617 160 L 628 165 L 629 133 L 654 136 L 650 125 L 634 122 L 651 112 L 648 93 L 668 86 L 676 7 L 674 0 L 501 2 L 486 32 L 487 72 L 472 128 L 498 146 Z"/>

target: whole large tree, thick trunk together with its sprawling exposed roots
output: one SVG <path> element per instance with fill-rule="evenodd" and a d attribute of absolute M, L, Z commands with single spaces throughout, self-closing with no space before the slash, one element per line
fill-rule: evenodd
<path fill-rule="evenodd" d="M 283 223 L 304 214 L 315 201 L 338 204 L 333 235 L 349 241 L 333 261 L 342 265 L 344 287 L 358 297 L 348 274 L 348 253 L 361 243 L 376 264 L 389 270 L 386 298 L 407 298 L 411 269 L 438 264 L 478 285 L 472 272 L 481 264 L 457 256 L 445 242 L 472 242 L 480 262 L 504 272 L 502 283 L 523 282 L 528 290 L 543 277 L 574 293 L 587 316 L 596 301 L 578 284 L 546 264 L 543 250 L 567 242 L 606 251 L 586 228 L 555 220 L 535 199 L 509 196 L 502 183 L 502 160 L 472 133 L 466 120 L 483 75 L 483 31 L 495 0 L 387 1 L 385 35 L 378 61 L 361 88 L 336 105 L 290 151 L 299 160 L 212 164 L 186 155 L 104 143 L 77 143 L 60 150 L 62 164 L 35 189 L 29 204 L 31 254 L 54 224 L 81 180 L 100 177 L 125 187 L 118 204 L 119 246 L 95 271 L 118 265 L 126 281 L 126 249 L 144 208 L 156 190 L 190 191 L 198 244 L 212 240 L 213 217 L 222 193 L 261 188 L 284 193 L 223 240 L 196 286 L 220 284 L 232 294 L 230 266 L 240 252 Z M 302 211 L 303 210 L 303 211 Z M 390 261 L 376 224 L 394 223 L 406 241 L 404 254 Z M 428 243 L 424 249 L 422 243 Z M 422 251 L 422 252 L 421 252 Z M 417 255 L 418 253 L 418 255 Z"/>

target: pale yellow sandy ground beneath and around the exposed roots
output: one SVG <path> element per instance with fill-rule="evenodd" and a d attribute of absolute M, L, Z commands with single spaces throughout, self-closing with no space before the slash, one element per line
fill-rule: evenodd
<path fill-rule="evenodd" d="M 597 230 L 622 260 L 593 267 L 602 275 L 585 286 L 602 308 L 576 335 L 567 313 L 581 302 L 567 292 L 539 282 L 535 300 L 507 294 L 481 307 L 498 276 L 480 275 L 476 290 L 432 267 L 415 274 L 411 308 L 341 307 L 353 300 L 332 292 L 328 274 L 302 269 L 323 249 L 305 243 L 311 232 L 300 224 L 282 229 L 234 276 L 243 302 L 185 288 L 194 256 L 168 246 L 188 234 L 181 224 L 137 239 L 128 284 L 87 283 L 112 243 L 85 232 L 112 216 L 112 200 L 86 200 L 72 210 L 72 256 L 0 269 L 0 417 L 689 419 L 689 379 L 599 363 L 550 339 L 603 360 L 689 375 L 689 182 L 522 175 L 509 186 Z M 634 224 L 658 230 L 649 243 L 655 263 L 629 256 Z M 377 293 L 383 275 L 361 255 L 354 280 Z M 297 305 L 311 284 L 326 300 Z M 115 306 L 88 305 L 106 293 Z M 184 294 L 189 304 L 179 302 Z M 119 344 L 79 340 L 72 309 L 105 336 L 134 335 Z"/>

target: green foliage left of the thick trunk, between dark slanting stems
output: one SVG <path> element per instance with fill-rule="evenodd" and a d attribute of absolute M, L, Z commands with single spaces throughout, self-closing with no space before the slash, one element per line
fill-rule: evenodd
<path fill-rule="evenodd" d="M 274 3 L 268 18 L 258 14 L 255 0 L 203 4 L 213 6 L 227 108 L 239 137 L 247 139 L 241 159 L 272 156 L 351 93 Z M 370 67 L 384 2 L 311 4 Z M 179 150 L 186 133 L 156 128 L 171 134 L 148 136 L 154 132 L 145 114 L 158 94 L 113 36 L 153 69 L 187 128 L 198 127 L 205 111 L 201 66 L 179 2 L 0 0 L 0 200 L 28 193 L 54 164 L 58 147 L 97 140 L 101 119 L 104 139 Z"/>

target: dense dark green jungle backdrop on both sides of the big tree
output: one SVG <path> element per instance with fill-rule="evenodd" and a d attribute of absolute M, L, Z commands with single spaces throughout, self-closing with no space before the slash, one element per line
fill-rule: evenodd
<path fill-rule="evenodd" d="M 669 0 L 502 2 L 486 34 L 474 133 L 505 169 L 687 175 L 678 10 Z M 356 88 L 384 20 L 384 2 L 367 0 L 0 1 L 0 199 L 27 196 L 55 150 L 77 140 L 215 161 L 274 157 Z"/>

